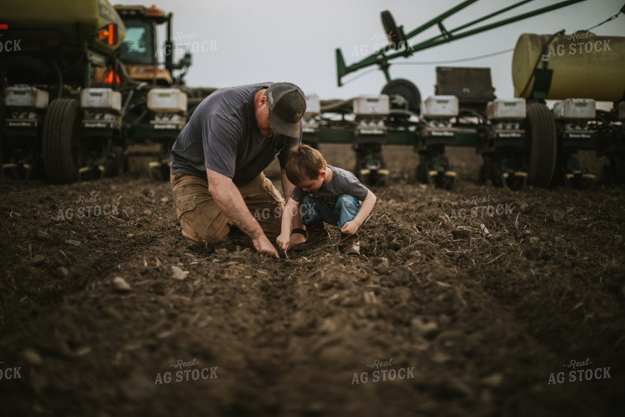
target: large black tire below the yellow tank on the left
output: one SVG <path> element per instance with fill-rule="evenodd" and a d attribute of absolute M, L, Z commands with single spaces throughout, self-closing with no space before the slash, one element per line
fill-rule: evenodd
<path fill-rule="evenodd" d="M 78 181 L 81 140 L 80 105 L 76 99 L 55 99 L 44 119 L 42 156 L 48 181 Z"/>

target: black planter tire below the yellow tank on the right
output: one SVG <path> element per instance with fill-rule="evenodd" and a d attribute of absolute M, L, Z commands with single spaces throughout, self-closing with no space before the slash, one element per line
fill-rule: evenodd
<path fill-rule="evenodd" d="M 556 171 L 558 136 L 556 122 L 546 104 L 529 103 L 526 120 L 526 163 L 528 183 L 535 187 L 551 185 Z"/>

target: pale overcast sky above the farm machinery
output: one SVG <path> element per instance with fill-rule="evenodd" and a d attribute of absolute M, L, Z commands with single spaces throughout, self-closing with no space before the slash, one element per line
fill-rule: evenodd
<path fill-rule="evenodd" d="M 144 3 L 151 5 L 156 0 Z M 479 0 L 444 21 L 454 28 L 482 17 L 517 0 Z M 535 10 L 558 1 L 534 0 L 504 15 L 509 17 Z M 111 1 L 113 4 L 138 4 L 137 0 Z M 306 94 L 321 99 L 349 99 L 358 95 L 378 95 L 385 78 L 374 67 L 344 77 L 343 87 L 336 81 L 335 48 L 342 49 L 347 65 L 371 54 L 385 40 L 382 10 L 390 10 L 404 32 L 445 10 L 460 0 L 316 0 L 316 1 L 207 1 L 158 0 L 156 6 L 174 13 L 173 35 L 177 42 L 190 42 L 193 65 L 186 77 L 188 85 L 226 87 L 262 81 L 290 81 Z M 624 0 L 586 0 L 515 24 L 470 36 L 440 47 L 419 51 L 409 58 L 392 61 L 393 79 L 409 79 L 425 98 L 433 95 L 435 63 L 492 54 L 515 47 L 521 33 L 567 33 L 587 29 L 615 15 Z M 495 17 L 487 22 L 494 22 Z M 597 35 L 625 36 L 625 15 L 593 30 Z M 439 32 L 426 31 L 412 42 L 421 42 Z M 490 67 L 498 97 L 512 97 L 512 52 L 445 66 Z M 364 74 L 369 72 L 368 74 Z M 361 75 L 364 74 L 364 75 Z M 356 78 L 358 77 L 358 78 Z M 353 81 L 351 81 L 353 79 Z"/>

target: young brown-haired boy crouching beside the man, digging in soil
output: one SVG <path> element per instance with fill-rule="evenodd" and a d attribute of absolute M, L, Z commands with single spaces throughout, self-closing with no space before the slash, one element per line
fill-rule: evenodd
<path fill-rule="evenodd" d="M 324 222 L 341 228 L 341 252 L 360 254 L 358 227 L 371 213 L 376 196 L 346 170 L 326 164 L 322 154 L 308 145 L 294 147 L 285 166 L 287 178 L 295 185 L 282 215 L 282 230 L 276 239 L 283 250 L 289 249 L 290 234 L 308 236 L 294 245 L 294 250 L 306 250 L 330 235 Z M 300 207 L 301 204 L 301 207 Z M 306 230 L 293 229 L 291 220 L 297 210 Z"/>

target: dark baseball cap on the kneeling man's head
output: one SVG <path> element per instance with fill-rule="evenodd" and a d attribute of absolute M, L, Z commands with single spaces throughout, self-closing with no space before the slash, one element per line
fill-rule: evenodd
<path fill-rule="evenodd" d="M 306 96 L 297 85 L 275 83 L 267 89 L 269 127 L 281 135 L 299 138 L 299 125 L 306 111 Z"/>

